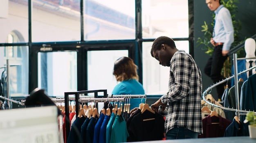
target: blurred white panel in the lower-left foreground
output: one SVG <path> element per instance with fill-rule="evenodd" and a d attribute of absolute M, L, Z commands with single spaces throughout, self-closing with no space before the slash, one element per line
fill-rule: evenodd
<path fill-rule="evenodd" d="M 56 106 L 0 110 L 1 143 L 59 143 Z"/>

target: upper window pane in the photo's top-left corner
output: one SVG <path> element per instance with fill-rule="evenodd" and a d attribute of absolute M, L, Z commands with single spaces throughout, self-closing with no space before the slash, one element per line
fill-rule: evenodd
<path fill-rule="evenodd" d="M 1 0 L 0 43 L 28 42 L 28 0 Z M 17 31 L 18 40 L 7 40 L 10 31 Z"/>

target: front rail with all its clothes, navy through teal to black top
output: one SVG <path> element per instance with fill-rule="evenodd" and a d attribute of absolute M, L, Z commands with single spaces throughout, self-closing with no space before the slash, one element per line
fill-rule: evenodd
<path fill-rule="evenodd" d="M 80 105 L 83 102 L 104 102 L 107 104 L 104 104 L 105 107 L 102 109 L 96 107 L 89 108 L 89 106 L 87 109 L 82 107 L 83 110 L 80 108 L 79 112 L 76 112 L 78 116 L 70 126 L 71 129 L 67 136 L 67 143 L 115 143 L 162 140 L 164 138 L 164 118 L 152 111 L 148 104 L 145 104 L 141 112 L 139 110 L 137 111 L 140 114 L 128 118 L 130 114 L 130 101 L 134 98 L 139 100 L 141 104 L 145 104 L 142 102 L 146 102 L 146 95 L 111 95 L 107 98 L 92 99 L 85 97 L 76 99 Z M 147 106 L 148 108 L 146 108 Z M 100 114 L 90 114 L 92 112 L 90 110 L 100 111 Z M 126 122 L 129 124 L 126 124 Z M 138 126 L 136 126 L 138 124 L 141 126 L 146 124 L 148 129 L 145 129 L 145 126 L 143 126 L 143 128 L 141 127 L 138 130 Z M 68 130 L 67 128 L 68 126 L 66 124 L 66 132 Z M 136 130 L 134 130 L 135 128 Z M 141 132 L 142 130 L 144 133 Z M 150 137 L 148 136 L 149 134 Z"/>

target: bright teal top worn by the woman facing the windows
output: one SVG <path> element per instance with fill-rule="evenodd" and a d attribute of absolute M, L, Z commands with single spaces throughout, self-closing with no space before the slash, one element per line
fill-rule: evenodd
<path fill-rule="evenodd" d="M 144 95 L 145 91 L 140 82 L 135 79 L 124 80 L 117 84 L 112 91 L 112 95 Z M 139 107 L 139 104 L 145 103 L 145 98 L 130 99 L 130 109 Z"/>

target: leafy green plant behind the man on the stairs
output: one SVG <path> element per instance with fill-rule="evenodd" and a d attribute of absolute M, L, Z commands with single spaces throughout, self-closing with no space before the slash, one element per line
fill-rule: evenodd
<path fill-rule="evenodd" d="M 236 20 L 236 12 L 238 9 L 238 6 L 236 5 L 237 3 L 239 3 L 239 0 L 221 0 L 222 4 L 229 10 L 230 14 L 231 14 L 231 18 L 232 18 L 232 23 L 233 23 L 233 27 L 234 27 L 234 42 L 231 45 L 232 47 L 235 47 L 236 45 L 242 43 L 245 39 L 240 40 L 239 39 L 239 30 L 242 29 L 241 26 L 241 22 L 240 20 Z M 212 55 L 213 53 L 213 49 L 214 46 L 210 43 L 211 37 L 212 37 L 212 33 L 213 33 L 213 25 L 214 25 L 214 20 L 215 20 L 215 13 L 212 12 L 211 13 L 212 16 L 212 20 L 210 24 L 207 24 L 207 22 L 204 21 L 204 25 L 202 25 L 202 32 L 204 32 L 203 37 L 199 37 L 198 41 L 196 41 L 197 43 L 197 47 L 199 45 L 203 45 L 202 50 L 205 51 L 206 54 L 208 55 Z M 243 49 L 238 50 L 238 52 L 236 52 L 238 54 L 238 57 L 240 57 L 241 52 L 243 51 Z M 222 75 L 224 75 L 225 77 L 228 77 L 231 74 L 231 63 L 227 60 L 225 62 L 225 65 L 222 69 Z"/>

